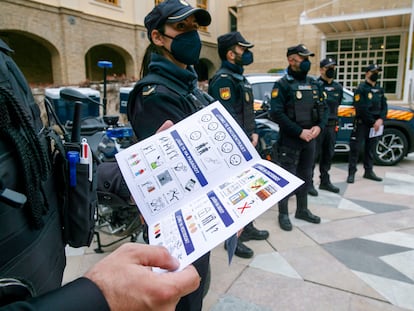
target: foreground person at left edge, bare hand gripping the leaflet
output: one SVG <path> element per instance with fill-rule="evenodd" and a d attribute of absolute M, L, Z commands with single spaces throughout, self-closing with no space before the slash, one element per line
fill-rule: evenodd
<path fill-rule="evenodd" d="M 37 135 L 39 107 L 12 52 L 0 39 L 0 310 L 171 310 L 200 277 L 192 266 L 149 271 L 179 266 L 159 246 L 123 244 L 61 286 L 66 258 L 56 174 Z"/>

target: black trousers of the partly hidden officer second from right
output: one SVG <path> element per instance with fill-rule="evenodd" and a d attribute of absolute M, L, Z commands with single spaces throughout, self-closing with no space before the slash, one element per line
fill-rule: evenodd
<path fill-rule="evenodd" d="M 335 154 L 335 142 L 336 126 L 326 126 L 316 139 L 315 159 L 319 162 L 319 178 L 322 184 L 329 182 L 329 171 Z"/>

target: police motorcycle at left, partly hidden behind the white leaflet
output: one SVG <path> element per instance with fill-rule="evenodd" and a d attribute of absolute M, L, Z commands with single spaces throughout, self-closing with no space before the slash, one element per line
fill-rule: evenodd
<path fill-rule="evenodd" d="M 73 88 L 60 90 L 60 97 L 70 103 L 84 105 L 102 105 L 98 101 Z M 118 116 L 87 117 L 81 120 L 79 129 L 74 129 L 75 120 L 80 118 L 76 111 L 73 121 L 67 121 L 62 129 L 79 131 L 83 142 L 87 142 L 97 165 L 98 205 L 95 211 L 95 236 L 98 247 L 95 252 L 102 253 L 103 247 L 111 246 L 121 240 L 130 238 L 135 242 L 144 232 L 144 221 L 137 205 L 122 178 L 115 160 L 115 154 L 136 142 L 130 126 L 119 124 Z M 103 244 L 100 234 L 114 236 L 117 239 Z"/>

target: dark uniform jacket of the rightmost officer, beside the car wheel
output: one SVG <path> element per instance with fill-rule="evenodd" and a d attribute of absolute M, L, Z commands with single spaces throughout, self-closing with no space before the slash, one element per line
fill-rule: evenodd
<path fill-rule="evenodd" d="M 355 119 L 372 127 L 377 119 L 385 120 L 387 116 L 387 98 L 380 86 L 362 82 L 354 93 Z"/>

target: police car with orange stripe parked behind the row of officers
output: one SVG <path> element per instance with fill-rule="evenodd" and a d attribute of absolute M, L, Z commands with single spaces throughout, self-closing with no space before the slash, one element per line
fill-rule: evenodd
<path fill-rule="evenodd" d="M 246 78 L 253 88 L 255 97 L 256 123 L 259 130 L 264 131 L 268 126 L 265 121 L 263 107 L 270 102 L 270 93 L 275 81 L 282 77 L 281 74 L 247 74 Z M 336 138 L 335 152 L 349 152 L 349 139 L 353 128 L 355 108 L 352 105 L 353 93 L 344 88 L 342 103 L 338 108 L 339 130 Z M 276 131 L 277 125 L 272 125 Z M 264 131 L 266 132 L 266 131 Z M 269 133 L 266 133 L 269 135 Z M 275 137 L 275 136 L 273 136 Z M 408 153 L 414 152 L 414 110 L 408 107 L 400 107 L 388 104 L 387 118 L 384 121 L 384 134 L 375 146 L 374 159 L 378 165 L 391 166 L 400 162 Z"/>

